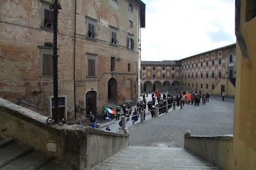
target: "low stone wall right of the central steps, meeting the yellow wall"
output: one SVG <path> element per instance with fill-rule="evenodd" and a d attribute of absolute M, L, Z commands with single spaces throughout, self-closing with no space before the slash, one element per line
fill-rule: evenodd
<path fill-rule="evenodd" d="M 220 170 L 234 169 L 233 136 L 185 136 L 184 148 Z"/>

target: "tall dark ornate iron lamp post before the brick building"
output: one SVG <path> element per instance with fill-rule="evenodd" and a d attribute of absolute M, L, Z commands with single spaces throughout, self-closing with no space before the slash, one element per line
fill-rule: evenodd
<path fill-rule="evenodd" d="M 52 0 L 53 3 L 50 6 L 50 9 L 53 10 L 53 95 L 54 95 L 54 110 L 52 118 L 55 123 L 58 123 L 60 120 L 60 115 L 58 111 L 58 50 L 57 50 L 57 36 L 58 36 L 58 13 L 61 10 L 60 1 Z"/>

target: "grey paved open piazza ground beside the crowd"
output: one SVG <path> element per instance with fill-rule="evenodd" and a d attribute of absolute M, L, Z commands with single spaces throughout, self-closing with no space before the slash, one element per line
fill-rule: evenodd
<path fill-rule="evenodd" d="M 129 128 L 131 146 L 183 147 L 187 129 L 192 135 L 216 136 L 233 133 L 234 99 L 211 96 L 200 106 L 185 104 L 182 110 L 172 110 Z"/>

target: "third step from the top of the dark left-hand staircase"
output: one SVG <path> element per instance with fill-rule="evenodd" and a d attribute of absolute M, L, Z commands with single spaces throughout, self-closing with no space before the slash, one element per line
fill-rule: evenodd
<path fill-rule="evenodd" d="M 13 160 L 9 164 L 7 164 L 4 167 L 1 167 L 1 170 L 22 170 L 22 169 L 38 169 L 48 162 L 52 160 L 52 157 L 44 155 L 40 152 L 31 152 L 27 155 L 24 155 L 23 157 L 20 157 L 20 159 Z"/>

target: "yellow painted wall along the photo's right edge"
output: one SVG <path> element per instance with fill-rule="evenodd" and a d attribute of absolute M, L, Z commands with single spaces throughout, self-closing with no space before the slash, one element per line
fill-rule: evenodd
<path fill-rule="evenodd" d="M 241 1 L 241 33 L 250 62 L 246 62 L 237 43 L 236 99 L 234 112 L 234 163 L 237 170 L 256 169 L 256 18 L 245 22 Z"/>

